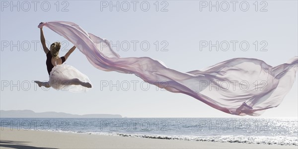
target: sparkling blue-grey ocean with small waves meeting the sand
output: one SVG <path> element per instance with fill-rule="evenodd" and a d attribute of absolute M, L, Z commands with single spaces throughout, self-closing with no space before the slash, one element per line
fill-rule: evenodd
<path fill-rule="evenodd" d="M 0 118 L 0 127 L 93 135 L 298 146 L 297 118 Z"/>

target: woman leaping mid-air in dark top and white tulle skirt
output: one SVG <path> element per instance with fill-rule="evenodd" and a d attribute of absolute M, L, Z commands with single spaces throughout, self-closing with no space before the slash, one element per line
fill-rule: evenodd
<path fill-rule="evenodd" d="M 40 24 L 42 24 L 41 22 Z M 61 48 L 61 44 L 59 42 L 55 42 L 51 45 L 50 50 L 46 46 L 46 40 L 43 34 L 42 27 L 40 28 L 40 40 L 42 43 L 42 47 L 44 52 L 47 55 L 47 70 L 49 73 L 49 81 L 48 82 L 41 82 L 41 81 L 34 81 L 38 84 L 39 87 L 53 87 L 55 89 L 70 89 L 72 88 L 74 92 L 85 90 L 85 87 L 91 88 L 91 84 L 89 83 L 90 80 L 88 77 L 74 67 L 69 65 L 62 65 L 69 56 L 74 52 L 75 46 L 72 47 L 65 56 L 59 57 L 59 50 Z M 79 79 L 81 78 L 81 80 Z M 83 81 L 82 81 L 83 80 Z M 74 85 L 81 85 L 74 86 Z M 83 87 L 82 87 L 83 86 Z"/>

